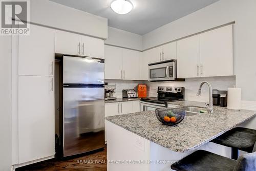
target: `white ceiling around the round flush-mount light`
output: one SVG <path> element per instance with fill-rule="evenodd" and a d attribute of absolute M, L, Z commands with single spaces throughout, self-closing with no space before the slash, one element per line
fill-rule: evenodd
<path fill-rule="evenodd" d="M 110 27 L 144 35 L 219 0 L 130 0 L 134 9 L 119 15 L 110 9 L 114 0 L 51 0 L 108 18 Z"/>

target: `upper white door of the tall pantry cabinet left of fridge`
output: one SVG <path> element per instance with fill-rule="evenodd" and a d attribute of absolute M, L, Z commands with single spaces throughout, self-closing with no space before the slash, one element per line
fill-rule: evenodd
<path fill-rule="evenodd" d="M 30 35 L 18 37 L 18 74 L 54 75 L 54 30 L 30 25 Z"/>

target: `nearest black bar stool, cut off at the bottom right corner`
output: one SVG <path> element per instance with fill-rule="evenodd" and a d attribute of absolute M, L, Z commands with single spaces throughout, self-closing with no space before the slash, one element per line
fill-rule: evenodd
<path fill-rule="evenodd" d="M 238 160 L 229 159 L 214 153 L 199 150 L 181 159 L 170 168 L 177 171 L 252 171 L 256 170 L 256 143 L 253 153 L 239 156 Z"/>

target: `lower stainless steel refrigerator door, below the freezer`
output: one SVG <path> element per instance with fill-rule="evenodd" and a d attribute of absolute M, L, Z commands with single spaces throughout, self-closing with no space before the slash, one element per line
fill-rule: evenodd
<path fill-rule="evenodd" d="M 104 88 L 63 88 L 63 156 L 104 147 Z"/>

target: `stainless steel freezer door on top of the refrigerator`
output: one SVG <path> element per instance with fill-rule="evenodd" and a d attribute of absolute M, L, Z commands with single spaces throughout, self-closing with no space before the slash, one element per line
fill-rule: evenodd
<path fill-rule="evenodd" d="M 63 83 L 104 84 L 104 60 L 63 56 Z"/>

